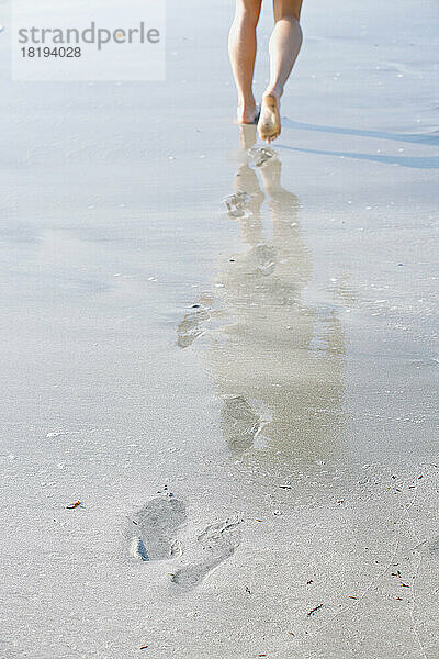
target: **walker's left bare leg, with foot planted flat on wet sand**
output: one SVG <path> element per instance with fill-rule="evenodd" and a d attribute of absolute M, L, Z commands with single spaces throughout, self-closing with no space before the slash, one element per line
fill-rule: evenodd
<path fill-rule="evenodd" d="M 238 91 L 238 123 L 255 123 L 257 108 L 252 92 L 256 59 L 256 27 L 262 0 L 236 0 L 235 20 L 228 38 L 228 54 Z"/>

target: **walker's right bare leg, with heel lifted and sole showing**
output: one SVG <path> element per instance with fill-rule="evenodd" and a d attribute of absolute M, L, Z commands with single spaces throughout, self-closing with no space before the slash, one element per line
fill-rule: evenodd
<path fill-rule="evenodd" d="M 274 29 L 270 38 L 270 82 L 263 93 L 258 131 L 261 139 L 271 142 L 281 132 L 279 112 L 283 88 L 302 45 L 299 23 L 302 0 L 273 0 Z"/>

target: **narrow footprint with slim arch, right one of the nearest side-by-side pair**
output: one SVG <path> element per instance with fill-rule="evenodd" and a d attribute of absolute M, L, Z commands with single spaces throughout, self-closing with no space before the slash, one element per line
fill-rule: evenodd
<path fill-rule="evenodd" d="M 198 537 L 203 554 L 200 562 L 178 570 L 171 579 L 172 583 L 192 590 L 211 570 L 229 558 L 240 543 L 240 518 L 225 520 L 207 526 Z"/>

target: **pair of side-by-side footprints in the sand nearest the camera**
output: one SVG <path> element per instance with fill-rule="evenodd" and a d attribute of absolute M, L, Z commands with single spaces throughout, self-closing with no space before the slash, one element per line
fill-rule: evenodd
<path fill-rule="evenodd" d="M 170 560 L 181 556 L 179 529 L 187 521 L 185 505 L 171 493 L 148 501 L 131 518 L 127 529 L 130 555 L 139 561 Z M 183 590 L 192 590 L 204 577 L 233 556 L 240 543 L 241 520 L 225 520 L 207 526 L 198 536 L 199 558 L 178 569 L 171 582 Z"/>

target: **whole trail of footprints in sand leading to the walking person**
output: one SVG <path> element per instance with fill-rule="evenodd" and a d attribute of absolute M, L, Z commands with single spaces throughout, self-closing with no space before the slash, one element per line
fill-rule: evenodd
<path fill-rule="evenodd" d="M 256 167 L 262 167 L 275 154 L 270 148 L 254 148 L 249 152 Z M 247 213 L 249 196 L 237 191 L 225 204 L 228 215 L 243 217 Z M 275 267 L 275 255 L 266 244 L 254 249 L 257 269 L 262 275 L 271 275 Z M 212 300 L 203 295 L 178 326 L 177 344 L 188 348 L 205 332 L 204 325 L 211 319 Z M 228 443 L 234 450 L 249 448 L 259 432 L 260 418 L 243 396 L 227 396 L 224 402 L 223 422 L 230 428 Z M 131 520 L 127 530 L 130 555 L 140 561 L 170 560 L 182 554 L 178 539 L 179 529 L 187 522 L 185 505 L 165 488 L 164 495 L 145 504 Z M 183 566 L 172 576 L 172 583 L 181 589 L 195 588 L 204 577 L 224 560 L 233 556 L 240 543 L 241 520 L 225 520 L 207 526 L 198 537 L 199 560 Z"/>

